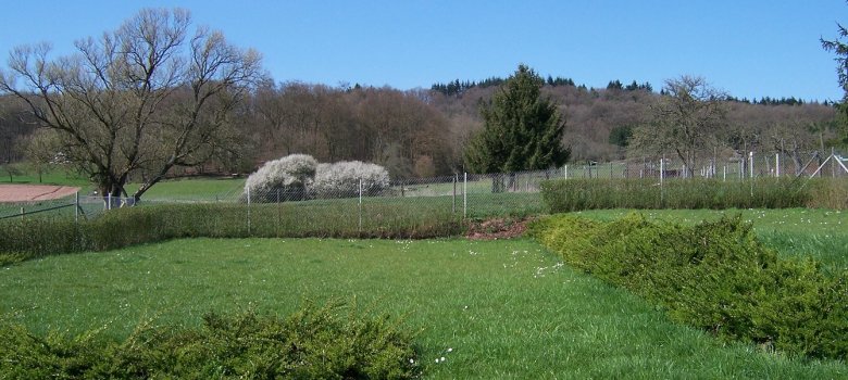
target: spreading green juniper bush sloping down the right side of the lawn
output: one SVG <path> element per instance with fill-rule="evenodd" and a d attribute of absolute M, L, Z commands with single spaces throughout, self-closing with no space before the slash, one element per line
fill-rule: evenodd
<path fill-rule="evenodd" d="M 674 320 L 765 349 L 848 358 L 848 274 L 780 259 L 738 217 L 684 227 L 635 214 L 612 223 L 556 216 L 532 233 Z"/>

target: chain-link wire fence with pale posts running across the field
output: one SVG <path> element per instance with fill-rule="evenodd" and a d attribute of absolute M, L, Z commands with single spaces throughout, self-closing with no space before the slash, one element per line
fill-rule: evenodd
<path fill-rule="evenodd" d="M 312 191 L 309 187 L 298 190 L 271 189 L 251 192 L 245 188 L 234 188 L 224 193 L 197 194 L 188 199 L 144 199 L 145 204 L 178 203 L 229 203 L 246 205 L 247 226 L 250 229 L 252 208 L 267 204 L 288 206 L 338 207 L 339 217 L 356 214 L 360 228 L 363 218 L 370 217 L 369 207 L 391 206 L 398 204 L 420 205 L 422 208 L 449 211 L 462 218 L 509 213 L 510 210 L 541 211 L 539 191 L 541 182 L 556 178 L 586 179 L 654 179 L 652 182 L 662 194 L 663 186 L 670 179 L 711 178 L 715 180 L 746 180 L 763 177 L 773 178 L 812 178 L 815 176 L 848 177 L 845 159 L 835 153 L 824 157 L 810 154 L 806 162 L 798 157 L 788 159 L 780 154 L 758 157 L 749 153 L 745 160 L 719 164 L 714 160 L 704 161 L 697 168 L 688 168 L 679 161 L 668 157 L 661 160 L 625 160 L 610 163 L 588 162 L 570 164 L 548 170 L 517 172 L 508 174 L 456 174 L 445 177 L 398 179 L 385 189 L 367 189 L 359 183 L 344 187 L 338 191 Z M 830 167 L 830 170 L 828 170 Z M 826 173 L 830 172 L 830 173 Z M 826 174 L 825 174 L 826 173 Z M 648 185 L 646 185 L 648 186 Z M 751 181 L 751 186 L 756 186 Z M 753 190 L 751 190 L 753 192 Z M 521 197 L 520 197 L 521 195 Z M 38 217 L 45 214 L 67 215 L 73 210 L 75 220 L 95 218 L 113 208 L 135 206 L 133 198 L 90 197 L 79 193 L 71 198 L 53 201 L 0 204 L 0 220 Z M 512 207 L 512 208 L 510 208 Z"/>

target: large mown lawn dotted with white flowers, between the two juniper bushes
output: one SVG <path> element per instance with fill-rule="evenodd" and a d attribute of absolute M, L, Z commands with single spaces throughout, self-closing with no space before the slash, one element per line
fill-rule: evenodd
<path fill-rule="evenodd" d="M 37 333 L 115 339 L 149 317 L 341 300 L 403 317 L 436 379 L 848 376 L 670 324 L 531 240 L 175 240 L 4 267 L 0 294 L 0 315 Z"/>

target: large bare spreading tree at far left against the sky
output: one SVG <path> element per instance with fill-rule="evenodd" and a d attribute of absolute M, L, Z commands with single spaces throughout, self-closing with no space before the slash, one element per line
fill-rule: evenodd
<path fill-rule="evenodd" d="M 103 195 L 126 195 L 129 176 L 141 175 L 139 199 L 227 143 L 229 112 L 262 74 L 259 53 L 190 24 L 185 10 L 147 9 L 68 56 L 51 60 L 47 43 L 15 48 L 0 90 L 59 134 Z"/>

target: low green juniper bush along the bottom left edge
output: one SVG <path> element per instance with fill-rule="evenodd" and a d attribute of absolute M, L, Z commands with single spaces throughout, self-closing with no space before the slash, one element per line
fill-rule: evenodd
<path fill-rule="evenodd" d="M 209 314 L 200 328 L 140 326 L 123 343 L 34 337 L 0 322 L 0 378 L 409 379 L 411 335 L 386 317 L 307 306 L 286 319 Z"/>

